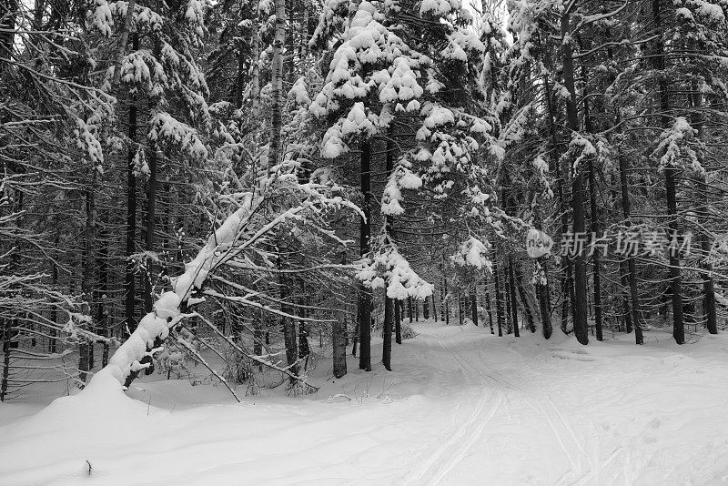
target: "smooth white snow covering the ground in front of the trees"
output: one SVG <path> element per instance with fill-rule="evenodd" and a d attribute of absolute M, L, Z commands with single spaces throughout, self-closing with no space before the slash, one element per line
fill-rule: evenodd
<path fill-rule="evenodd" d="M 161 380 L 139 383 L 138 400 L 95 390 L 37 412 L 0 405 L 0 484 L 728 483 L 728 334 L 584 348 L 415 329 L 393 372 L 351 359 L 326 380 L 322 360 L 323 386 L 303 398 L 238 404 L 222 387 Z"/>

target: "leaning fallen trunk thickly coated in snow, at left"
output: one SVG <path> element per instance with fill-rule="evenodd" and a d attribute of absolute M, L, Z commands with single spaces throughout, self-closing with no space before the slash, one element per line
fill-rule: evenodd
<path fill-rule="evenodd" d="M 173 279 L 172 290 L 159 296 L 153 310 L 139 321 L 129 339 L 116 349 L 108 364 L 93 376 L 86 388 L 99 386 L 99 382 L 108 383 L 109 380 L 128 386 L 136 378 L 136 371 L 149 366 L 153 352 L 169 336 L 169 329 L 182 319 L 182 309 L 193 290 L 202 288 L 210 270 L 225 258 L 227 250 L 235 243 L 240 228 L 253 212 L 253 206 L 250 195 L 243 198 L 238 210 L 207 238 L 207 244 L 199 250 L 197 257 L 185 265 L 185 272 Z"/>

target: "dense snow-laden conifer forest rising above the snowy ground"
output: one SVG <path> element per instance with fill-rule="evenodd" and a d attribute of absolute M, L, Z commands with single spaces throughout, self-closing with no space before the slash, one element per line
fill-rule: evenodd
<path fill-rule="evenodd" d="M 0 399 L 130 335 L 122 382 L 215 356 L 299 387 L 372 333 L 391 368 L 406 316 L 724 329 L 726 12 L 0 0 Z"/>

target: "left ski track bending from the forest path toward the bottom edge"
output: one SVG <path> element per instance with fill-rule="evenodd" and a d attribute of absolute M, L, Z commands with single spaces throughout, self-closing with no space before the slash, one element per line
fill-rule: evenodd
<path fill-rule="evenodd" d="M 440 348 L 449 351 L 464 370 L 470 371 L 470 373 L 482 380 L 500 382 L 510 388 L 510 385 L 506 382 L 482 373 L 471 365 L 467 359 L 464 359 L 459 352 L 450 348 L 442 339 L 438 338 L 438 340 Z M 410 478 L 404 483 L 438 484 L 455 466 L 469 455 L 490 420 L 501 409 L 502 403 L 502 392 L 496 391 L 487 384 L 483 385 L 475 410 L 470 413 L 463 425 L 454 434 L 450 434 L 448 440 L 445 440 L 440 447 L 430 454 L 430 457 L 424 461 L 417 471 L 411 473 Z"/>

